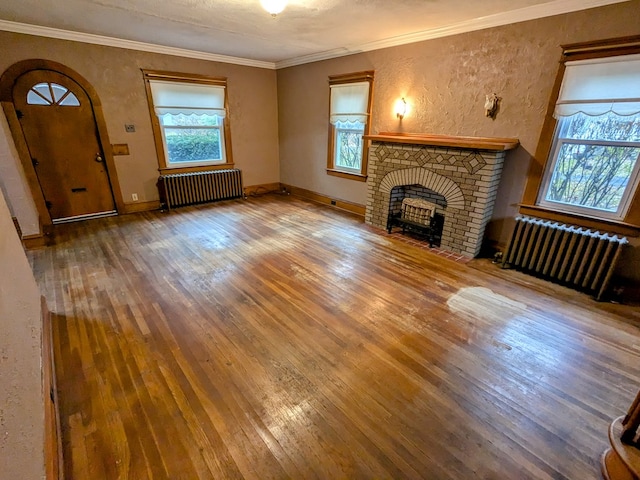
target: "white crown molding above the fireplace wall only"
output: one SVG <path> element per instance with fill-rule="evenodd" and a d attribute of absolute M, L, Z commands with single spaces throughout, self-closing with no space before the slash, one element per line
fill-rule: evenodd
<path fill-rule="evenodd" d="M 325 52 L 282 60 L 280 62 L 276 62 L 275 65 L 276 69 L 279 70 L 281 68 L 294 67 L 305 63 L 320 62 L 322 60 L 330 60 L 332 58 L 354 55 L 356 53 L 370 52 L 372 50 L 380 50 L 382 48 L 396 47 L 409 43 L 422 42 L 435 38 L 448 37 L 451 35 L 484 30 L 492 27 L 500 27 L 502 25 L 526 22 L 528 20 L 562 15 L 564 13 L 587 10 L 590 8 L 603 7 L 614 3 L 624 3 L 628 1 L 629 0 L 554 0 L 542 5 L 533 5 L 531 7 L 519 8 L 510 12 L 487 15 L 486 17 L 465 20 L 464 22 L 453 23 L 451 25 L 432 28 L 421 32 L 399 35 L 397 37 L 378 40 L 375 42 L 336 48 Z"/>

